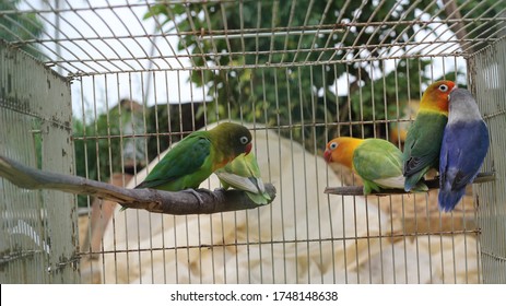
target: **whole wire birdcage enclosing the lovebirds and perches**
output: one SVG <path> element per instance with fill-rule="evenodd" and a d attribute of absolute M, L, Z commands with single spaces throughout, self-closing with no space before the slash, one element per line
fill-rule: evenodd
<path fill-rule="evenodd" d="M 233 120 L 276 190 L 250 210 L 172 215 L 0 178 L 2 283 L 506 282 L 504 0 L 0 8 L 1 156 L 133 188 L 173 143 Z M 437 189 L 325 192 L 362 184 L 325 163 L 330 139 L 402 149 L 442 79 L 476 98 L 492 179 L 451 213 Z"/>

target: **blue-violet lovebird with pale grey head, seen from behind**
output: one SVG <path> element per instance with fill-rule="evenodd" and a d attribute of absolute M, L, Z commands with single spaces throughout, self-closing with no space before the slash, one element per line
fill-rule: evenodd
<path fill-rule="evenodd" d="M 489 151 L 489 130 L 470 92 L 454 89 L 439 155 L 439 210 L 452 211 Z"/>

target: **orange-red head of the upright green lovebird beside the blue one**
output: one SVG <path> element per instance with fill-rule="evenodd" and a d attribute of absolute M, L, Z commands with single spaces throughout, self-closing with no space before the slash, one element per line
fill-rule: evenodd
<path fill-rule="evenodd" d="M 432 83 L 423 93 L 420 109 L 448 114 L 448 95 L 454 87 L 457 85 L 451 81 Z"/>

